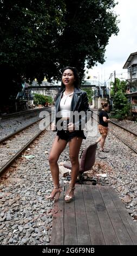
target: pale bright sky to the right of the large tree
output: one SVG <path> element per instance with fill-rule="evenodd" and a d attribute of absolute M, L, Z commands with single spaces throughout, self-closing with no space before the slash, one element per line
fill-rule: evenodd
<path fill-rule="evenodd" d="M 106 62 L 97 64 L 93 69 L 89 69 L 86 76 L 91 80 L 98 80 L 102 83 L 109 83 L 114 80 L 114 70 L 116 77 L 120 80 L 127 78 L 127 69 L 123 69 L 129 55 L 137 52 L 137 1 L 118 0 L 118 5 L 113 9 L 120 20 L 118 35 L 112 35 L 106 47 Z M 110 74 L 112 73 L 112 78 Z"/>

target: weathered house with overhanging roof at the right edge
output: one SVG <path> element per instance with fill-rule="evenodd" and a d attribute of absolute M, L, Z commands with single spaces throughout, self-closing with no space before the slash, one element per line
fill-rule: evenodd
<path fill-rule="evenodd" d="M 128 70 L 126 96 L 132 104 L 132 112 L 137 114 L 137 52 L 131 53 L 123 69 Z"/>

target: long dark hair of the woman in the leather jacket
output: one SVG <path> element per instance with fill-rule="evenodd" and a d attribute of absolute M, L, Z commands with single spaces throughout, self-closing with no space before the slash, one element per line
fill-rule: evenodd
<path fill-rule="evenodd" d="M 66 69 L 70 69 L 73 71 L 74 77 L 75 77 L 75 81 L 74 81 L 74 87 L 79 88 L 80 87 L 80 79 L 79 79 L 79 72 L 77 71 L 76 68 L 74 68 L 74 66 L 66 66 L 66 68 L 63 69 L 62 71 L 62 76 L 63 76 L 63 72 Z M 60 93 L 62 92 L 62 90 L 65 88 L 63 82 L 62 82 L 62 76 L 61 76 L 61 89 L 60 89 Z"/>

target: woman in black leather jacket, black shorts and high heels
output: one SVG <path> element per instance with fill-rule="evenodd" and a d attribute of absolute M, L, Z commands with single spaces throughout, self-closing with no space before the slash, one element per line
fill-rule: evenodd
<path fill-rule="evenodd" d="M 76 68 L 68 66 L 63 69 L 61 90 L 56 97 L 55 109 L 56 121 L 51 125 L 51 129 L 56 129 L 57 135 L 49 155 L 54 188 L 47 198 L 54 200 L 56 194 L 58 194 L 59 198 L 62 191 L 59 183 L 57 160 L 69 142 L 69 157 L 72 166 L 71 182 L 64 198 L 65 202 L 69 203 L 74 198 L 75 182 L 79 173 L 79 152 L 82 139 L 86 139 L 82 129 L 85 116 L 80 117 L 79 121 L 75 119 L 77 119 L 81 111 L 84 112 L 84 115 L 87 111 L 90 111 L 87 94 L 79 89 L 79 74 Z"/>

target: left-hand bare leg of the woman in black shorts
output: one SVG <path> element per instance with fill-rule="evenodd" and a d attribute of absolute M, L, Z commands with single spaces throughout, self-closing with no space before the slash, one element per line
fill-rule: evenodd
<path fill-rule="evenodd" d="M 58 136 L 56 136 L 49 154 L 49 164 L 51 174 L 53 176 L 54 187 L 58 187 L 59 185 L 59 168 L 57 160 L 60 157 L 60 154 L 62 153 L 66 145 L 67 141 L 64 141 L 64 139 L 58 140 Z M 52 193 L 54 193 L 54 190 Z"/>

